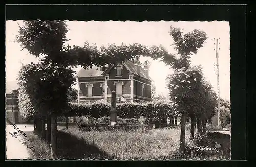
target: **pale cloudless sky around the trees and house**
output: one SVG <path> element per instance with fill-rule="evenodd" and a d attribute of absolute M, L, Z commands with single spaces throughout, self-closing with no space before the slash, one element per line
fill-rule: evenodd
<path fill-rule="evenodd" d="M 38 60 L 30 55 L 27 50 L 21 50 L 20 44 L 15 42 L 18 35 L 18 23 L 22 21 L 6 21 L 6 81 L 16 80 L 21 63 L 29 64 Z M 159 21 L 159 22 L 132 22 L 132 21 L 67 21 L 70 29 L 66 34 L 70 39 L 66 44 L 71 46 L 83 46 L 84 42 L 95 43 L 97 46 L 115 43 L 120 45 L 140 43 L 147 46 L 163 45 L 169 53 L 176 53 L 172 43 L 173 39 L 169 35 L 170 26 L 180 27 L 184 33 L 193 29 L 205 31 L 208 36 L 203 47 L 196 55 L 191 58 L 193 65 L 202 65 L 205 79 L 211 83 L 217 92 L 217 75 L 215 70 L 216 54 L 214 38 L 219 39 L 219 78 L 220 78 L 220 97 L 230 100 L 230 35 L 229 22 L 187 22 L 187 21 Z M 150 77 L 156 85 L 156 92 L 168 96 L 166 88 L 166 76 L 172 70 L 158 60 L 140 57 L 140 61 L 150 61 Z M 75 68 L 79 71 L 81 67 Z M 76 86 L 74 86 L 76 88 Z"/>

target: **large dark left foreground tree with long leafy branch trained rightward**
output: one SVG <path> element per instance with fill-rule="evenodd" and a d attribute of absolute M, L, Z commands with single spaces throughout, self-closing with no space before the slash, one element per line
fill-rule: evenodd
<path fill-rule="evenodd" d="M 24 66 L 19 75 L 19 83 L 24 86 L 24 93 L 29 96 L 31 104 L 35 107 L 34 117 L 47 116 L 48 125 L 51 124 L 51 154 L 54 158 L 57 156 L 56 117 L 67 112 L 67 93 L 75 82 L 71 67 L 114 65 L 133 60 L 139 55 L 153 59 L 158 56 L 172 58 L 161 45 L 147 47 L 138 43 L 122 43 L 120 46 L 110 44 L 98 49 L 95 45 L 85 42 L 83 47 L 64 47 L 67 32 L 67 24 L 64 21 L 24 21 L 24 24 L 19 26 L 19 35 L 16 37 L 23 49 L 40 58 L 40 63 Z M 29 83 L 30 80 L 33 81 L 34 88 Z"/>

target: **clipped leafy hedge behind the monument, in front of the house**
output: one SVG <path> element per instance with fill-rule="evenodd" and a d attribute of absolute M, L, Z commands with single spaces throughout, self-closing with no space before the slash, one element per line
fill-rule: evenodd
<path fill-rule="evenodd" d="M 120 118 L 148 117 L 152 120 L 167 118 L 175 115 L 173 104 L 170 101 L 156 101 L 147 103 L 123 103 L 117 104 L 117 116 Z M 94 118 L 110 115 L 108 103 L 69 103 L 68 116 L 90 115 Z"/>

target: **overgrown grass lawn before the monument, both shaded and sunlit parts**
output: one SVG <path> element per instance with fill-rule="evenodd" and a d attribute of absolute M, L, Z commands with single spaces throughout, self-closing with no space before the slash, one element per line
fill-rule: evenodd
<path fill-rule="evenodd" d="M 186 142 L 190 131 L 186 130 Z M 33 132 L 27 136 L 35 143 L 32 159 L 49 159 L 50 147 Z M 76 128 L 58 131 L 58 158 L 61 159 L 172 159 L 179 146 L 179 129 L 138 132 L 81 132 Z M 220 136 L 215 137 L 218 142 Z M 228 138 L 225 140 L 228 143 Z M 230 145 L 230 139 L 229 139 Z M 223 157 L 223 155 L 221 155 Z M 218 158 L 218 157 L 216 157 Z M 228 158 L 228 157 L 227 157 Z"/>

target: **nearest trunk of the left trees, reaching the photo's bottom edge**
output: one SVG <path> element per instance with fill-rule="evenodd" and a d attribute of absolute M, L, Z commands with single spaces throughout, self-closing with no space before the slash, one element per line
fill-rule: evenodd
<path fill-rule="evenodd" d="M 56 115 L 51 115 L 51 157 L 55 159 L 57 157 L 57 119 Z"/>

